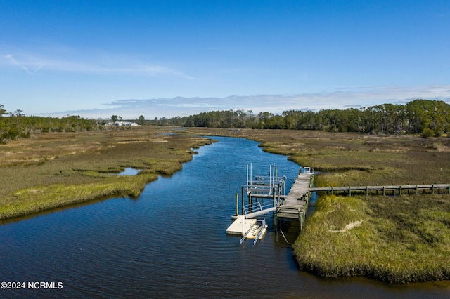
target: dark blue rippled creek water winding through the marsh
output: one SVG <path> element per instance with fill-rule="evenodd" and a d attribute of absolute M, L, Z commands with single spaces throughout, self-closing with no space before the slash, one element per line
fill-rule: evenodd
<path fill-rule="evenodd" d="M 253 174 L 292 185 L 298 166 L 257 142 L 214 138 L 170 178 L 138 199 L 117 198 L 0 226 L 0 281 L 62 282 L 62 289 L 1 290 L 0 298 L 443 298 L 433 284 L 320 279 L 297 270 L 271 230 L 256 246 L 225 234 Z M 270 218 L 268 218 L 270 220 Z M 288 234 L 288 241 L 293 241 Z"/>

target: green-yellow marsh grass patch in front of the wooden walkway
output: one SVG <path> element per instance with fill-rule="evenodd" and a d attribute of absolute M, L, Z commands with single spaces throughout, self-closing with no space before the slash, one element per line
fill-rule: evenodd
<path fill-rule="evenodd" d="M 321 197 L 293 245 L 297 263 L 323 277 L 364 275 L 390 283 L 450 279 L 449 199 Z"/>

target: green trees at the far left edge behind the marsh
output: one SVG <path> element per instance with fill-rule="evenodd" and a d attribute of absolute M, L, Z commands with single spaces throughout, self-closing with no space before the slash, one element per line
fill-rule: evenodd
<path fill-rule="evenodd" d="M 41 132 L 77 132 L 94 131 L 97 122 L 94 119 L 84 119 L 75 115 L 65 117 L 34 117 L 25 116 L 22 110 L 6 112 L 0 104 L 0 144 L 17 138 L 30 138 L 34 133 Z"/>

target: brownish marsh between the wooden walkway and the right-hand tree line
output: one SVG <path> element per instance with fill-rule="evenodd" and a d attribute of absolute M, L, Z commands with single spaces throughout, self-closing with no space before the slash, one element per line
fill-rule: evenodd
<path fill-rule="evenodd" d="M 188 128 L 186 133 L 261 142 L 266 152 L 287 155 L 301 166 L 328 173 L 325 185 L 450 183 L 450 138 L 212 128 Z"/>

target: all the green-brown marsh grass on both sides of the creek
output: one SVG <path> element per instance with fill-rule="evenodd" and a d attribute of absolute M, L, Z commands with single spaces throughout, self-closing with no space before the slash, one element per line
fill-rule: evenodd
<path fill-rule="evenodd" d="M 112 195 L 192 159 L 223 135 L 261 142 L 318 171 L 316 186 L 450 183 L 450 139 L 285 130 L 129 128 L 50 133 L 0 145 L 0 220 Z M 126 167 L 142 169 L 117 177 Z M 449 195 L 333 197 L 316 202 L 293 245 L 302 269 L 324 277 L 365 275 L 392 283 L 450 279 Z"/>

